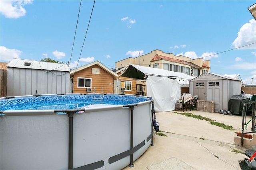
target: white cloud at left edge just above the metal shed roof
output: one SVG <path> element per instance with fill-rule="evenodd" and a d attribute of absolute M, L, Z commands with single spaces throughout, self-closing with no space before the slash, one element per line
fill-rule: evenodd
<path fill-rule="evenodd" d="M 8 49 L 4 46 L 0 46 L 1 60 L 12 61 L 12 59 L 20 59 L 22 51 L 17 49 Z"/>

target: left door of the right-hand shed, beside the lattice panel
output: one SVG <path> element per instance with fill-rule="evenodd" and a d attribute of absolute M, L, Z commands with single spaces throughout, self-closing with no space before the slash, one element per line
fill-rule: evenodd
<path fill-rule="evenodd" d="M 193 95 L 198 96 L 198 100 L 206 100 L 206 82 L 196 81 L 194 84 Z"/>

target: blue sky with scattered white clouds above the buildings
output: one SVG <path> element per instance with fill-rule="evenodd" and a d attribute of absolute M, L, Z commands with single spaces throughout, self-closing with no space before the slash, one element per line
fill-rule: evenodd
<path fill-rule="evenodd" d="M 210 72 L 256 84 L 256 21 L 248 10 L 255 1 L 82 0 L 77 29 L 80 0 L 0 3 L 1 62 L 50 58 L 71 68 L 93 61 L 114 68 L 159 49 L 204 57 Z"/>

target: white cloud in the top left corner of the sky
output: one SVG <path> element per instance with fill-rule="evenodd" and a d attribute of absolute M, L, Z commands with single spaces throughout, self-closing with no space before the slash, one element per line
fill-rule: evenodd
<path fill-rule="evenodd" d="M 0 13 L 6 18 L 20 18 L 26 15 L 23 8 L 26 4 L 32 4 L 33 0 L 1 0 Z"/>

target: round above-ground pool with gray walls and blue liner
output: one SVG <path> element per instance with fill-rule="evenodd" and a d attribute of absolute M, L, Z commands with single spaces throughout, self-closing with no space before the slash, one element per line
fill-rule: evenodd
<path fill-rule="evenodd" d="M 153 100 L 119 94 L 0 98 L 2 170 L 122 169 L 152 143 Z"/>

